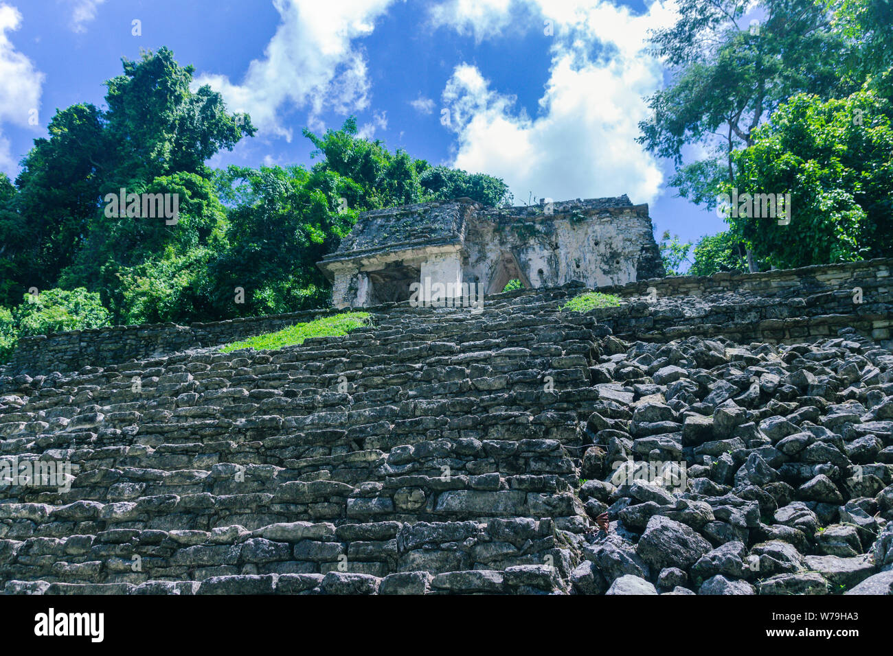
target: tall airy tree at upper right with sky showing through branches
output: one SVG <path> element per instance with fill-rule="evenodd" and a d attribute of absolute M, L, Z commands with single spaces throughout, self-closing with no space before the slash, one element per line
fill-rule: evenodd
<path fill-rule="evenodd" d="M 763 17 L 746 21 L 757 10 Z M 841 76 L 852 48 L 830 29 L 814 0 L 682 0 L 680 19 L 651 37 L 672 73 L 648 98 L 651 117 L 638 143 L 679 168 L 671 184 L 708 208 L 722 182 L 735 177 L 733 152 L 791 95 L 846 95 L 861 81 Z M 686 145 L 706 145 L 705 160 L 683 165 Z"/>

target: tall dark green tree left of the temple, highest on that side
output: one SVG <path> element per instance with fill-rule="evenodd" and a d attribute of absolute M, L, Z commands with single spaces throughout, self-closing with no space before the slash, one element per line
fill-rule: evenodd
<path fill-rule="evenodd" d="M 191 199 L 181 199 L 188 205 L 204 193 L 198 179 L 211 178 L 204 162 L 256 131 L 249 117 L 228 114 L 210 87 L 190 90 L 192 67 L 179 66 L 167 48 L 122 65 L 124 73 L 106 83 L 107 110 L 76 104 L 57 111 L 49 137 L 36 139 L 22 162 L 13 203 L 18 218 L 0 217 L 3 236 L 18 235 L 0 253 L 0 269 L 13 280 L 4 286 L 4 303 L 14 303 L 11 295 L 23 288 L 55 286 L 60 278 L 108 299 L 104 285 L 112 283 L 104 269 L 157 257 L 171 240 L 201 242 L 221 231 L 219 212 L 187 212 L 178 229 L 105 216 L 104 199 L 121 188 L 191 190 Z M 207 193 L 215 193 L 213 185 Z"/>

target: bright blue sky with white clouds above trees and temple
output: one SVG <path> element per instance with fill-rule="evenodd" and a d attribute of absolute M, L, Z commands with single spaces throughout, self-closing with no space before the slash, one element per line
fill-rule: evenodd
<path fill-rule="evenodd" d="M 260 128 L 213 166 L 312 164 L 301 129 L 354 114 L 392 149 L 504 178 L 516 204 L 625 193 L 696 240 L 722 220 L 634 141 L 666 79 L 647 30 L 674 18 L 673 0 L 0 0 L 0 170 L 56 108 L 103 105 L 121 57 L 168 46 Z"/>

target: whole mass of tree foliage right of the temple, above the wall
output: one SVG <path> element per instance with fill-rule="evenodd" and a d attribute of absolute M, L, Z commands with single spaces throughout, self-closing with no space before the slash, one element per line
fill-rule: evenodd
<path fill-rule="evenodd" d="M 893 255 L 891 25 L 890 0 L 682 0 L 655 31 L 672 79 L 638 141 L 677 164 L 679 195 L 791 196 L 790 217 L 730 212 L 692 273 Z"/>

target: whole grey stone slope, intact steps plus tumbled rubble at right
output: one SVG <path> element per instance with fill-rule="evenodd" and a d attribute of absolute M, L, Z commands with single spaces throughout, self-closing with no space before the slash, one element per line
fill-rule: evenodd
<path fill-rule="evenodd" d="M 829 335 L 838 300 L 808 342 L 739 345 L 635 341 L 640 302 L 561 311 L 576 291 L 390 306 L 279 351 L 0 376 L 0 468 L 72 466 L 70 485 L 0 481 L 0 590 L 893 589 L 893 353 Z M 630 461 L 688 479 L 618 480 Z"/>

